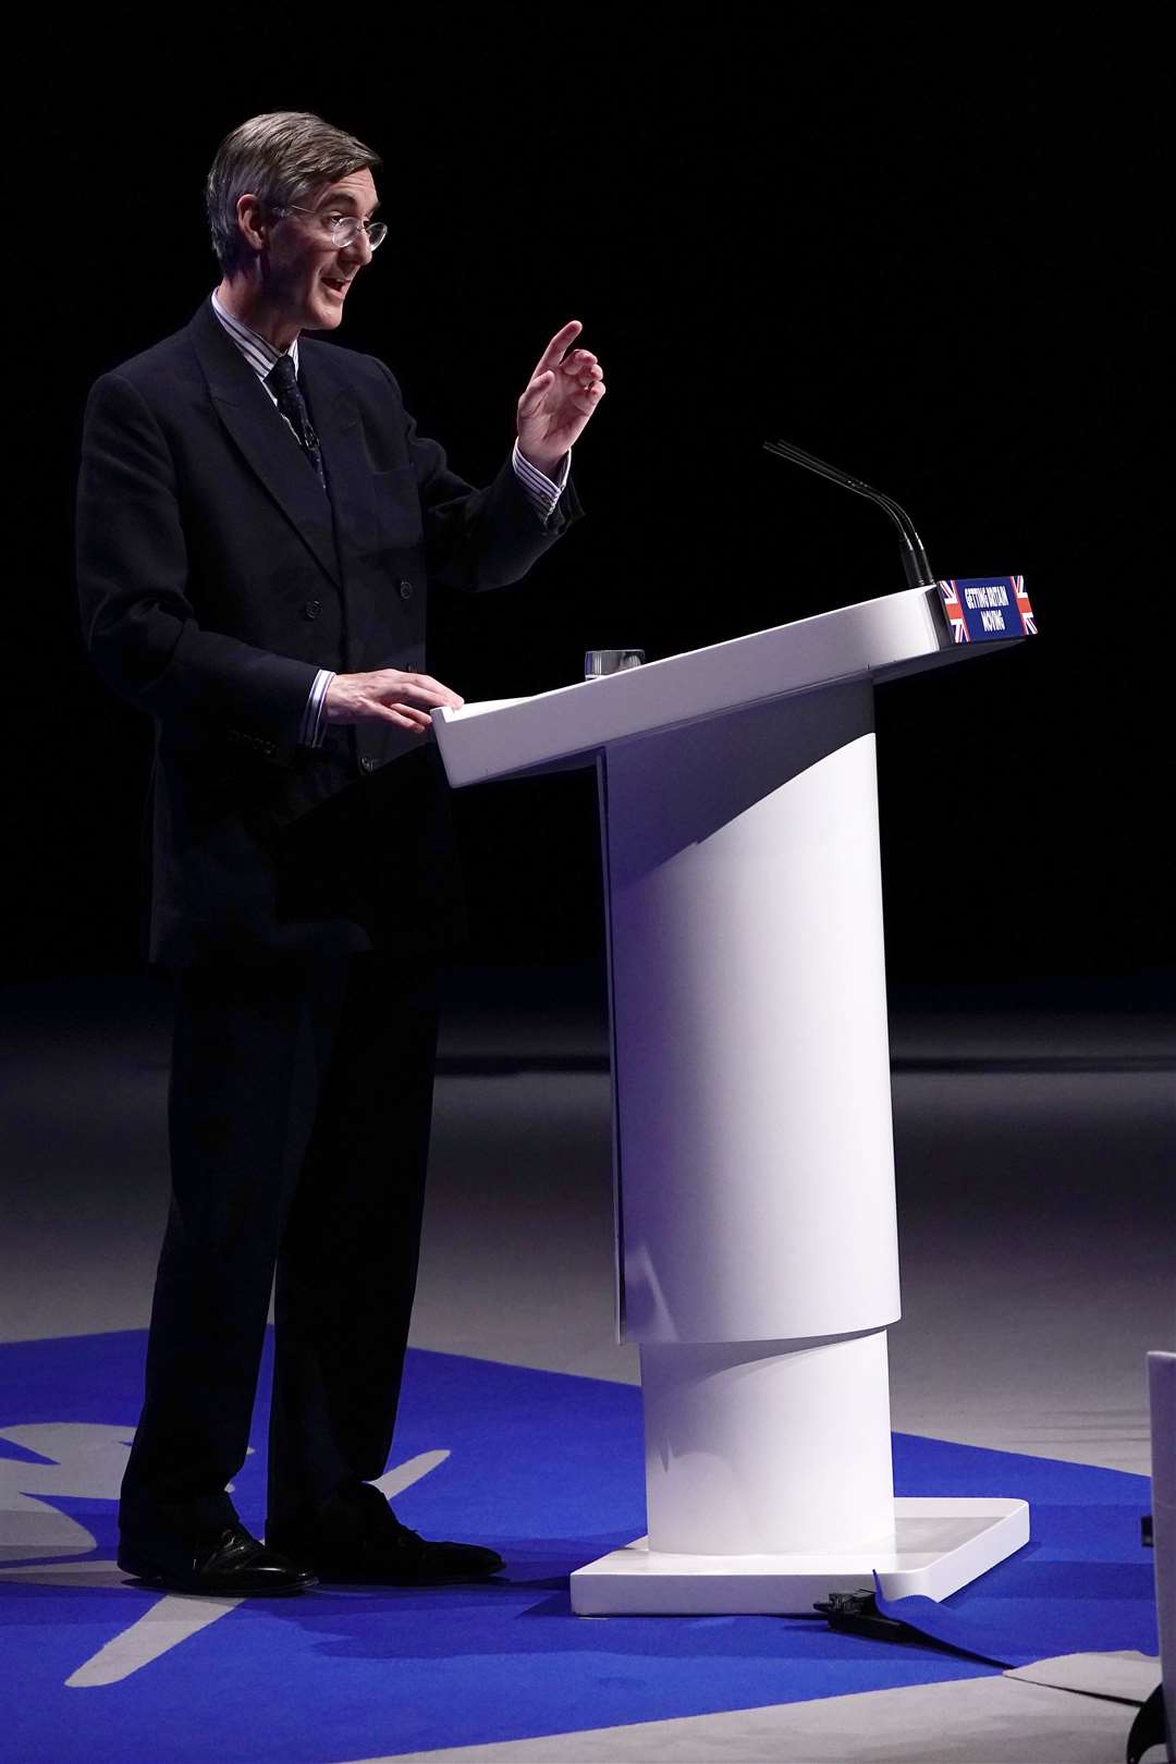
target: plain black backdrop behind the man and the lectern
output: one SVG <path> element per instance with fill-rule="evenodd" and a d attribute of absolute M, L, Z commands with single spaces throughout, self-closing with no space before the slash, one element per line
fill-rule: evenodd
<path fill-rule="evenodd" d="M 150 737 L 78 639 L 81 407 L 213 286 L 201 185 L 222 134 L 296 108 L 384 157 L 391 236 L 339 337 L 390 362 L 458 471 L 495 471 L 564 319 L 608 379 L 575 455 L 589 519 L 518 589 L 437 594 L 434 672 L 467 699 L 529 693 L 578 677 L 585 647 L 656 658 L 901 589 L 882 512 L 760 450 L 799 441 L 896 496 L 936 573 L 1023 572 L 1040 623 L 878 695 L 892 977 L 1165 984 L 1157 46 L 949 42 L 883 12 L 642 19 L 601 39 L 508 9 L 377 39 L 340 16 L 277 60 L 234 37 L 206 62 L 160 48 L 148 74 L 74 44 L 51 125 L 25 93 L 9 977 L 138 965 Z M 455 806 L 469 960 L 591 961 L 592 776 Z"/>

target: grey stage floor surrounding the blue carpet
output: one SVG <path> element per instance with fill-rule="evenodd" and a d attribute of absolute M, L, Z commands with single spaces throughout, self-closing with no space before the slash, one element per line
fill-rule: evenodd
<path fill-rule="evenodd" d="M 0 1341 L 139 1330 L 166 1208 L 166 1002 L 143 983 L 12 988 L 0 1037 Z M 924 998 L 896 1011 L 892 1043 L 896 1431 L 1146 1475 L 1144 1353 L 1176 1337 L 1171 1023 Z M 497 1013 L 455 998 L 414 1346 L 636 1381 L 635 1349 L 614 1339 L 601 1053 L 598 1020 L 557 977 Z M 21 1420 L 7 1408 L 0 1427 Z M 420 1755 L 1121 1755 L 1130 1711 L 1079 1700 L 1076 1720 L 1068 1692 L 950 1679 Z"/>

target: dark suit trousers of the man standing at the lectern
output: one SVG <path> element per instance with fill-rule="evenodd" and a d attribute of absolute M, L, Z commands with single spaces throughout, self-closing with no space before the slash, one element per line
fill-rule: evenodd
<path fill-rule="evenodd" d="M 386 956 L 176 981 L 171 1212 L 120 1526 L 233 1522 L 275 1284 L 268 1524 L 383 1475 L 416 1284 L 435 984 Z"/>

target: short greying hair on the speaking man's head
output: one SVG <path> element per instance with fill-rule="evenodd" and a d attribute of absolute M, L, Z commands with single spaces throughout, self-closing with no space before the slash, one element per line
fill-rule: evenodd
<path fill-rule="evenodd" d="M 212 249 L 226 275 L 247 261 L 236 220 L 240 196 L 256 196 L 264 208 L 291 208 L 323 183 L 351 171 L 376 169 L 374 153 L 353 134 L 331 127 L 310 111 L 268 111 L 226 134 L 205 183 Z"/>

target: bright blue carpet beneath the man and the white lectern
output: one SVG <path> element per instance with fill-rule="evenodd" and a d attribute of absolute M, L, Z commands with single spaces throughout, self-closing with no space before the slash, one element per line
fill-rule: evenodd
<path fill-rule="evenodd" d="M 139 1332 L 0 1346 L 0 1432 L 71 1422 L 129 1436 L 141 1364 Z M 71 1450 L 85 1438 L 76 1432 Z M 85 1455 L 55 1471 L 46 1454 L 0 1439 L 0 1526 L 16 1524 L 12 1496 L 28 1492 L 93 1535 L 90 1558 L 113 1558 L 116 1436 L 104 1438 L 104 1475 Z M 234 1499 L 259 1528 L 263 1406 L 254 1439 Z M 1033 1505 L 1030 1547 L 917 1621 L 954 1623 L 971 1635 L 961 1646 L 982 1637 L 993 1646 L 979 1651 L 994 1660 L 1023 1658 L 1026 1646 L 1028 1658 L 1157 1649 L 1151 1559 L 1139 1545 L 1146 1478 L 901 1434 L 894 1446 L 901 1494 Z M 645 1529 L 633 1388 L 413 1353 L 393 1462 L 435 1448 L 451 1455 L 397 1512 L 435 1536 L 494 1544 L 506 1584 L 243 1603 L 118 1683 L 67 1688 L 159 1595 L 60 1586 L 48 1572 L 0 1579 L 5 1759 L 326 1764 L 998 1671 L 931 1646 L 837 1635 L 816 1618 L 573 1618 L 571 1568 Z M 894 1614 L 910 1621 L 912 1603 L 922 1602 Z"/>

